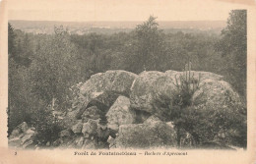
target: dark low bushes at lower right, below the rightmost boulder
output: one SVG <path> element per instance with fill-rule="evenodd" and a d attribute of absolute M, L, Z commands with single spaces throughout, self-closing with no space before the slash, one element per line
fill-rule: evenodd
<path fill-rule="evenodd" d="M 190 106 L 181 109 L 180 117 L 173 122 L 180 132 L 191 134 L 197 144 L 216 141 L 223 145 L 246 146 L 245 116 L 230 108 L 205 110 Z"/>

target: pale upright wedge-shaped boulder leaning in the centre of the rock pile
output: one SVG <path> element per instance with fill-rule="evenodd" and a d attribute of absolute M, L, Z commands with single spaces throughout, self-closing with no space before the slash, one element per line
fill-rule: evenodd
<path fill-rule="evenodd" d="M 119 126 L 135 122 L 135 112 L 130 109 L 130 100 L 119 96 L 106 113 L 108 128 L 118 131 Z"/>

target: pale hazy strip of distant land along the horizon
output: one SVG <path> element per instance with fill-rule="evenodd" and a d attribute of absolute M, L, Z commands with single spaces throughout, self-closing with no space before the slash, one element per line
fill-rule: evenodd
<path fill-rule="evenodd" d="M 55 21 L 18 21 L 10 20 L 9 23 L 16 29 L 32 33 L 52 33 L 54 26 L 68 27 L 71 33 L 84 34 L 98 32 L 111 34 L 120 31 L 131 31 L 142 22 L 55 22 Z M 158 22 L 164 32 L 204 32 L 219 33 L 226 26 L 224 21 L 171 21 Z"/>

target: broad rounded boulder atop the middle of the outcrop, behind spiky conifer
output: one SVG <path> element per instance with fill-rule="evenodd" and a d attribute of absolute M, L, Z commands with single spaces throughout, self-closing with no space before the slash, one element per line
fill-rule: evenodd
<path fill-rule="evenodd" d="M 156 97 L 173 99 L 177 94 L 177 86 L 180 85 L 181 79 L 189 79 L 191 83 L 199 83 L 204 80 L 220 81 L 223 76 L 196 71 L 143 72 L 132 85 L 130 94 L 131 107 L 149 113 L 158 112 L 154 107 Z"/>

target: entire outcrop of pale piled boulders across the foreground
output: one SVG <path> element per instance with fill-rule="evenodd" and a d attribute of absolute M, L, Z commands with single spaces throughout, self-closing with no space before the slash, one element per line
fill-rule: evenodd
<path fill-rule="evenodd" d="M 239 95 L 229 83 L 224 82 L 222 76 L 195 71 L 189 74 L 189 86 L 195 87 L 190 103 L 196 109 L 232 111 L 236 110 L 233 106 L 242 106 Z M 111 148 L 192 145 L 195 140 L 188 132 L 180 139 L 182 143 L 177 142 L 177 130 L 168 119 L 169 115 L 166 115 L 166 110 L 169 109 L 155 106 L 156 97 L 174 100 L 179 96 L 176 93 L 181 84 L 180 77 L 184 75 L 188 76 L 188 73 L 152 71 L 135 75 L 126 71 L 107 71 L 92 76 L 87 82 L 78 83 L 72 108 L 56 112 L 66 128 L 57 140 L 47 145 L 60 148 L 96 148 L 93 137 L 101 116 L 107 118 L 108 128 L 118 134 L 116 138 L 109 137 Z M 221 131 L 222 128 L 220 134 Z M 12 132 L 9 145 L 34 148 L 35 135 L 36 132 L 27 123 L 23 123 Z M 200 145 L 203 148 L 229 148 L 218 140 L 208 140 Z"/>

